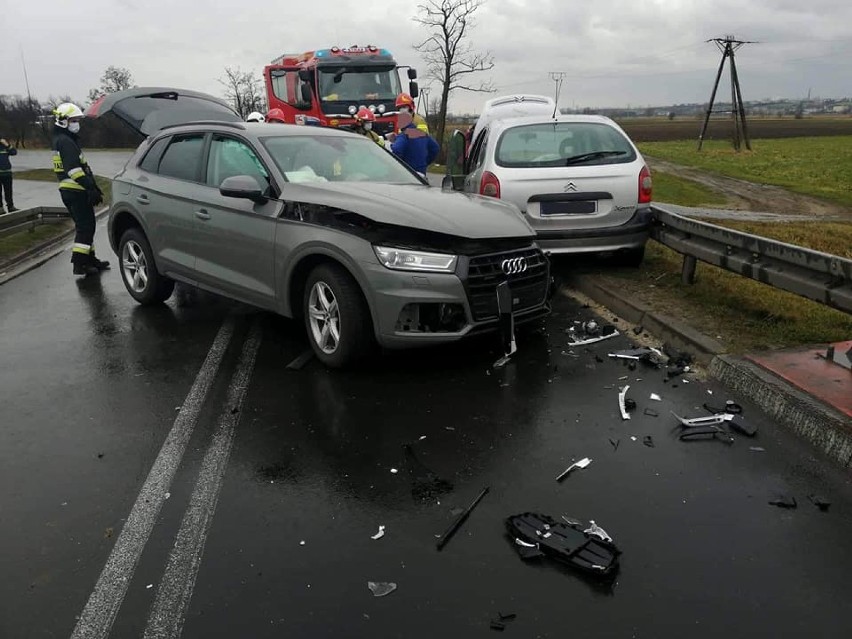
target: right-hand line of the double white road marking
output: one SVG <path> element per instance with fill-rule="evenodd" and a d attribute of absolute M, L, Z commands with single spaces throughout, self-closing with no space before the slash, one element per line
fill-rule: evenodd
<path fill-rule="evenodd" d="M 204 455 L 189 507 L 184 513 L 175 545 L 169 554 L 166 572 L 157 588 L 144 639 L 180 637 L 195 588 L 195 579 L 201 567 L 204 544 L 219 502 L 219 491 L 234 443 L 234 431 L 240 420 L 243 398 L 248 390 L 261 339 L 262 330 L 255 322 L 243 345 L 216 431 Z"/>

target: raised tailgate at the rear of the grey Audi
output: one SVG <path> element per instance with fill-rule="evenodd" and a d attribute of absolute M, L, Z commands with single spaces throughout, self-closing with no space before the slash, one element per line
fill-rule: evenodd
<path fill-rule="evenodd" d="M 167 126 L 190 122 L 242 122 L 224 100 L 198 91 L 166 87 L 138 87 L 110 93 L 86 109 L 86 116 L 97 118 L 110 111 L 145 136 Z"/>

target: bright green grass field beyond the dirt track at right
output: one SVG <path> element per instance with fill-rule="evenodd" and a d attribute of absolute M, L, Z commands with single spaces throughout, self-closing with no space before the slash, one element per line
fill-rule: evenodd
<path fill-rule="evenodd" d="M 852 206 L 852 136 L 753 140 L 737 152 L 729 141 L 642 142 L 643 155 Z"/>

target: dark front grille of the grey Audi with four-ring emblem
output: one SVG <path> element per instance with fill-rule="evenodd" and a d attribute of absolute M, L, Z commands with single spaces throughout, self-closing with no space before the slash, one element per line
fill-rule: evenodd
<path fill-rule="evenodd" d="M 527 270 L 506 275 L 501 264 L 504 260 L 518 257 L 526 258 Z M 545 301 L 549 277 L 547 258 L 535 248 L 470 258 L 465 288 L 474 321 L 494 319 L 499 315 L 497 285 L 501 282 L 508 280 L 512 291 L 512 310 L 520 312 Z"/>

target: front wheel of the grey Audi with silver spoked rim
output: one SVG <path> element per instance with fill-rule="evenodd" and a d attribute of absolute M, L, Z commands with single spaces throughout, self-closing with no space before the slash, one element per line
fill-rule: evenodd
<path fill-rule="evenodd" d="M 352 366 L 375 345 L 373 322 L 361 288 L 341 266 L 320 264 L 311 271 L 305 282 L 302 313 L 311 348 L 329 368 Z"/>

